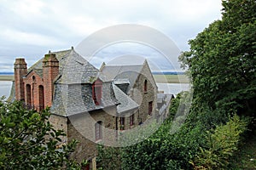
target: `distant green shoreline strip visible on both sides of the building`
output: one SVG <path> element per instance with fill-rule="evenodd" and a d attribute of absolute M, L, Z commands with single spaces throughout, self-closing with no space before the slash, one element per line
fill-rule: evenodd
<path fill-rule="evenodd" d="M 154 81 L 158 83 L 189 83 L 185 75 L 153 75 Z M 0 81 L 14 81 L 14 75 L 0 75 Z"/>

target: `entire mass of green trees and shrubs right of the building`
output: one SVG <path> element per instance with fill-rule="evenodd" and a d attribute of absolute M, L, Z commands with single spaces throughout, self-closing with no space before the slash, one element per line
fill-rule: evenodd
<path fill-rule="evenodd" d="M 222 19 L 190 40 L 189 51 L 179 56 L 193 94 L 178 94 L 170 116 L 143 142 L 119 150 L 101 147 L 99 167 L 255 168 L 256 2 L 222 4 Z M 119 159 L 109 159 L 113 156 Z"/>

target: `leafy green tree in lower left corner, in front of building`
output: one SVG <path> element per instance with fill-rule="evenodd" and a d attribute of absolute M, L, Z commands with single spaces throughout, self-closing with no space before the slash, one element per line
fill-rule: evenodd
<path fill-rule="evenodd" d="M 49 110 L 26 110 L 22 103 L 0 99 L 1 169 L 79 169 L 68 156 L 76 145 L 61 144 L 62 131 L 49 123 Z"/>

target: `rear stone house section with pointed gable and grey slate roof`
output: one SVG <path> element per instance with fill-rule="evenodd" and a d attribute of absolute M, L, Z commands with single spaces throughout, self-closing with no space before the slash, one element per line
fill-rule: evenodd
<path fill-rule="evenodd" d="M 125 94 L 137 103 L 136 126 L 143 124 L 149 117 L 155 117 L 158 89 L 147 60 L 143 65 L 102 65 L 101 69 L 107 75 L 108 80 L 113 80 Z M 125 121 L 125 127 L 129 127 L 127 125 L 129 124 Z"/>

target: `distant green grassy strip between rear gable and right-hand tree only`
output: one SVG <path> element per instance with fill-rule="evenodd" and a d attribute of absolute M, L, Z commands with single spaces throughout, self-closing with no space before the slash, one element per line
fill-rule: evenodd
<path fill-rule="evenodd" d="M 189 83 L 186 75 L 153 75 L 155 82 L 162 83 Z"/>

